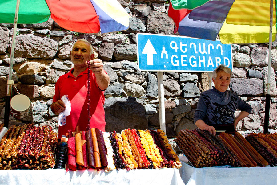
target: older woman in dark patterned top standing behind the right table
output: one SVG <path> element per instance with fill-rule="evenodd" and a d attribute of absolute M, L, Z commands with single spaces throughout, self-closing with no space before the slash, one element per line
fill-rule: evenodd
<path fill-rule="evenodd" d="M 219 65 L 213 72 L 215 87 L 200 94 L 194 123 L 200 129 L 206 129 L 215 135 L 216 130 L 226 130 L 234 134 L 238 122 L 251 113 L 251 106 L 243 101 L 235 92 L 227 90 L 232 71 Z M 235 110 L 241 112 L 235 117 Z"/>

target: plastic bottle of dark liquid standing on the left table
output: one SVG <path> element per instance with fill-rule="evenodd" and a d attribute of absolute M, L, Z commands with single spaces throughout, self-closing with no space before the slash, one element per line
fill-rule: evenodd
<path fill-rule="evenodd" d="M 65 168 L 68 147 L 67 140 L 66 136 L 62 136 L 61 141 L 58 143 L 54 168 Z"/>

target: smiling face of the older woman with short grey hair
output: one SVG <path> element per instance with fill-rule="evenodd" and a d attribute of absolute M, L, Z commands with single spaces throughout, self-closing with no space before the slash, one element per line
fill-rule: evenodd
<path fill-rule="evenodd" d="M 230 80 L 231 74 L 228 74 L 225 71 L 218 72 L 216 79 L 213 79 L 216 90 L 219 92 L 225 92 L 229 87 Z"/>

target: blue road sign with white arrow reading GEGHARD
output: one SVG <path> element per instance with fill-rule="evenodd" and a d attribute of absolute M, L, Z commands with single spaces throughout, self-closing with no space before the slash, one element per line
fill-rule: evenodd
<path fill-rule="evenodd" d="M 231 44 L 184 36 L 137 34 L 140 71 L 213 72 L 220 64 L 232 70 Z"/>

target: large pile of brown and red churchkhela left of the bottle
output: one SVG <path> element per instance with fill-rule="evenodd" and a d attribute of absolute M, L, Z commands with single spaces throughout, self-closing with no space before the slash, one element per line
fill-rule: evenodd
<path fill-rule="evenodd" d="M 13 125 L 0 142 L 0 169 L 53 168 L 57 143 L 51 127 Z"/>

